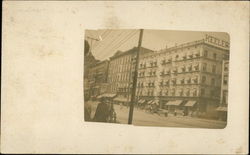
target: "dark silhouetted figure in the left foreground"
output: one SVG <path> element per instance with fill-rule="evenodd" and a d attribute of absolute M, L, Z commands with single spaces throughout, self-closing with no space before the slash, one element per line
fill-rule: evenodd
<path fill-rule="evenodd" d="M 105 98 L 101 98 L 101 103 L 97 105 L 93 121 L 108 122 L 109 114 L 110 108 L 107 104 L 107 100 Z"/>

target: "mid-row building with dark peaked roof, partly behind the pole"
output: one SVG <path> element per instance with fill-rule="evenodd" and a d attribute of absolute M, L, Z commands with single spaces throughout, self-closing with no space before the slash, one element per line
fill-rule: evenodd
<path fill-rule="evenodd" d="M 131 97 L 136 51 L 136 47 L 125 52 L 118 51 L 110 58 L 108 70 L 109 92 L 116 93 L 118 98 L 124 101 L 129 101 Z M 140 57 L 148 53 L 153 53 L 153 51 L 142 47 Z"/>

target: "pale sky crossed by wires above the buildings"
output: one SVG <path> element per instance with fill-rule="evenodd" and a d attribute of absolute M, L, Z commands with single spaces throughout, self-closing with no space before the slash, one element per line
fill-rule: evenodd
<path fill-rule="evenodd" d="M 223 32 L 198 32 L 198 31 L 173 31 L 173 30 L 143 30 L 142 47 L 158 51 L 166 47 L 172 47 L 175 44 L 201 40 L 205 34 L 214 36 L 218 39 L 228 41 L 229 36 Z M 91 41 L 89 37 L 100 41 Z M 118 50 L 126 51 L 138 46 L 139 30 L 86 30 L 85 39 L 88 40 L 91 52 L 98 60 L 109 59 Z"/>

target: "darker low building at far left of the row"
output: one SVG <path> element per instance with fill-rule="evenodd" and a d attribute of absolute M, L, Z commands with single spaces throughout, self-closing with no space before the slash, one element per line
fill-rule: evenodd
<path fill-rule="evenodd" d="M 90 96 L 97 97 L 98 95 L 107 93 L 108 68 L 108 60 L 100 61 L 90 66 L 88 73 Z"/>

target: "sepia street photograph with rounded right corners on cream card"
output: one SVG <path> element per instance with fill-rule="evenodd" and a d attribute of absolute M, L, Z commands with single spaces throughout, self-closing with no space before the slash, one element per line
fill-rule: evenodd
<path fill-rule="evenodd" d="M 226 127 L 227 33 L 103 29 L 84 38 L 85 121 Z"/>

